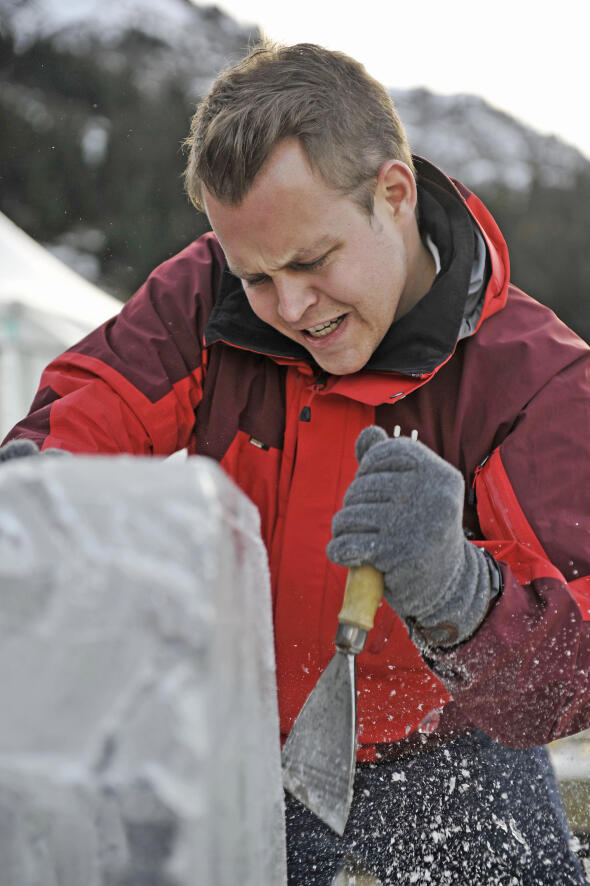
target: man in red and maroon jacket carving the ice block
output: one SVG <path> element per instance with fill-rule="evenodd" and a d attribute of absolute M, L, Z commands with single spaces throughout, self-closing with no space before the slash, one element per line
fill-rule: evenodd
<path fill-rule="evenodd" d="M 9 438 L 220 461 L 260 509 L 284 735 L 345 567 L 383 572 L 349 823 L 287 797 L 291 883 L 351 856 L 382 883 L 584 882 L 539 746 L 590 725 L 590 349 L 352 59 L 256 48 L 189 145 L 214 233 L 54 361 Z"/>

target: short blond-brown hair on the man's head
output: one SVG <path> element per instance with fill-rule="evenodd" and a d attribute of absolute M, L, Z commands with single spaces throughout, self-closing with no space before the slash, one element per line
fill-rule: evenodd
<path fill-rule="evenodd" d="M 296 137 L 312 169 L 369 215 L 381 165 L 412 155 L 391 96 L 363 65 L 311 43 L 264 41 L 223 71 L 200 103 L 185 145 L 185 186 L 239 204 L 274 146 Z"/>

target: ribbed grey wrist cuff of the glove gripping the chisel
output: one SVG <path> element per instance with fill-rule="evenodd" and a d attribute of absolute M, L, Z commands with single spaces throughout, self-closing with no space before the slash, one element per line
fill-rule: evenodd
<path fill-rule="evenodd" d="M 464 565 L 451 598 L 421 622 L 405 620 L 421 652 L 435 647 L 447 649 L 471 637 L 502 590 L 502 574 L 491 554 L 468 541 L 464 545 Z"/>

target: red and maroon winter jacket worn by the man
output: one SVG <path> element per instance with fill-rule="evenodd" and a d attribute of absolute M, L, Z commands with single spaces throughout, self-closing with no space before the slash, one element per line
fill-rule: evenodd
<path fill-rule="evenodd" d="M 442 269 L 363 371 L 314 372 L 252 313 L 206 234 L 50 364 L 9 435 L 78 453 L 188 447 L 225 467 L 260 511 L 286 734 L 334 651 L 345 571 L 325 546 L 356 437 L 373 423 L 416 429 L 465 477 L 466 530 L 504 588 L 475 636 L 428 666 L 382 604 L 358 662 L 361 758 L 445 704 L 441 730 L 474 724 L 515 747 L 590 725 L 590 349 L 509 284 L 480 201 L 417 168 Z M 474 306 L 475 226 L 487 262 Z"/>

